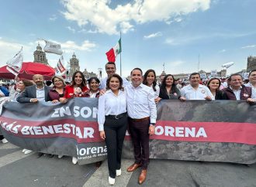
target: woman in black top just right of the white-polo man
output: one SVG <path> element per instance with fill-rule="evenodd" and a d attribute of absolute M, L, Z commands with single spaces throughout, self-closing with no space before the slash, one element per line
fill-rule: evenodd
<path fill-rule="evenodd" d="M 213 93 L 215 100 L 227 100 L 227 95 L 222 90 L 220 90 L 220 85 L 220 79 L 216 77 L 211 78 L 207 83 L 207 87 L 211 93 Z"/>

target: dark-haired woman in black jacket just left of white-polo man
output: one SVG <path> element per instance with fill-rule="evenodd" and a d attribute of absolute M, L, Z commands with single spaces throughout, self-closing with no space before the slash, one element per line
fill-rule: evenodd
<path fill-rule="evenodd" d="M 161 83 L 159 97 L 163 100 L 178 100 L 182 97 L 180 90 L 176 87 L 175 77 L 171 74 L 164 76 Z"/>

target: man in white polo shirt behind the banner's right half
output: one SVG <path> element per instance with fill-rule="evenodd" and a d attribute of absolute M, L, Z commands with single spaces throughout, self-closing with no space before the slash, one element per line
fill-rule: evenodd
<path fill-rule="evenodd" d="M 180 100 L 215 100 L 208 87 L 199 84 L 199 73 L 192 73 L 189 76 L 189 85 L 182 87 Z"/>

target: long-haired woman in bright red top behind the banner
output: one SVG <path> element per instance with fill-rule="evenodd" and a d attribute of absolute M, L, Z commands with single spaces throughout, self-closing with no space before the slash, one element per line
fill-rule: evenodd
<path fill-rule="evenodd" d="M 65 95 L 60 98 L 61 103 L 67 103 L 68 99 L 76 97 L 75 89 L 77 87 L 81 88 L 81 97 L 84 97 L 84 93 L 88 90 L 88 87 L 86 86 L 85 76 L 81 71 L 74 72 L 71 85 L 65 87 Z"/>

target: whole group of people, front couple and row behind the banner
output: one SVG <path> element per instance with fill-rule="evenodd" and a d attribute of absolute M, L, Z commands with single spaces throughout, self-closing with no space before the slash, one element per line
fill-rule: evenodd
<path fill-rule="evenodd" d="M 74 97 L 99 97 L 98 123 L 99 136 L 106 141 L 108 151 L 109 184 L 114 185 L 116 176 L 122 174 L 121 155 L 126 130 L 133 141 L 134 163 L 127 168 L 133 172 L 141 168 L 138 178 L 142 184 L 147 177 L 149 164 L 149 138 L 154 134 L 157 119 L 157 103 L 161 100 L 247 100 L 256 102 L 256 70 L 249 73 L 248 83 L 240 74 L 232 74 L 228 79 L 212 78 L 202 82 L 199 73 L 191 73 L 189 83 L 184 84 L 171 74 L 161 76 L 157 83 L 154 70 L 144 74 L 140 68 L 130 72 L 130 82 L 116 73 L 116 64 L 106 63 L 107 76 L 102 80 L 91 77 L 89 80 L 81 71 L 67 83 L 61 76 L 54 76 L 50 87 L 43 76 L 36 74 L 33 81 L 16 80 L 9 87 L 9 97 L 19 103 L 50 101 L 65 104 Z M 0 90 L 0 97 L 6 94 Z M 5 140 L 5 139 L 4 139 Z M 6 140 L 5 140 L 6 142 Z M 25 154 L 31 150 L 23 149 Z M 43 153 L 39 153 L 43 155 Z M 50 155 L 53 156 L 53 155 Z M 61 158 L 63 155 L 58 155 Z M 73 157 L 76 164 L 78 159 Z"/>

